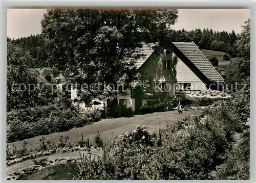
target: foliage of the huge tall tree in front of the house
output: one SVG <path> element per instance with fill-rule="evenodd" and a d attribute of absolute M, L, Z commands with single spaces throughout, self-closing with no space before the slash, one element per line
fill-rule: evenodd
<path fill-rule="evenodd" d="M 142 57 L 136 48 L 142 41 L 163 43 L 177 17 L 177 10 L 49 9 L 41 21 L 48 65 L 68 82 L 97 84 L 81 90 L 83 101 L 114 97 L 118 84 L 133 80 L 135 61 Z"/>

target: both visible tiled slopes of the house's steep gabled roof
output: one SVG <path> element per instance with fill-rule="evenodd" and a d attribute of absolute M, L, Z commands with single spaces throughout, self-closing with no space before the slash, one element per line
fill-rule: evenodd
<path fill-rule="evenodd" d="M 224 82 L 223 77 L 219 74 L 219 72 L 211 65 L 211 63 L 207 60 L 207 58 L 203 55 L 201 50 L 194 42 L 172 42 L 173 48 L 175 50 L 179 50 L 182 53 L 189 64 L 193 67 L 196 67 L 199 72 L 201 72 L 204 77 L 207 77 L 208 80 L 215 81 L 215 82 Z M 146 44 L 142 43 L 142 48 L 139 50 L 139 54 L 145 55 L 144 57 L 140 58 L 136 62 L 137 68 L 140 68 L 144 62 L 153 54 L 155 49 L 153 46 L 156 44 Z M 179 57 L 179 53 L 175 53 Z M 183 59 L 181 59 L 185 62 Z M 188 63 L 185 63 L 186 65 Z"/>

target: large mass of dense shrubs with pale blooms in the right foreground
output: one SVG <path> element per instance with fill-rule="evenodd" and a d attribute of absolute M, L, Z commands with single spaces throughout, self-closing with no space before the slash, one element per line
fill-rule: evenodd
<path fill-rule="evenodd" d="M 197 118 L 186 118 L 154 133 L 137 125 L 133 132 L 119 136 L 121 140 L 113 147 L 115 153 L 108 151 L 112 154 L 109 158 L 79 166 L 79 179 L 216 179 L 212 172 L 227 161 L 238 123 L 232 111 L 224 107 L 204 111 Z M 248 153 L 249 146 L 245 145 Z M 241 174 L 248 174 L 246 166 L 248 162 Z"/>

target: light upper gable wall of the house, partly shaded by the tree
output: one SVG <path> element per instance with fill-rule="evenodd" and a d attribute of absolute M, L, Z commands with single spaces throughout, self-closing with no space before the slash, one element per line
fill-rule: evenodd
<path fill-rule="evenodd" d="M 170 60 L 170 69 L 163 69 L 164 60 Z M 175 85 L 177 83 L 191 83 L 191 90 L 206 88 L 199 77 L 171 49 L 168 55 L 164 53 L 163 48 L 155 51 L 139 70 L 152 77 L 154 86 L 157 86 L 155 82 L 166 83 L 170 97 L 175 96 Z"/>

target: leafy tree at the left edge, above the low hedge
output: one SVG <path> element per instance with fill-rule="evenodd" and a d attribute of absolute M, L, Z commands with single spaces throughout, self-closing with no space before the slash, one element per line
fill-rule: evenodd
<path fill-rule="evenodd" d="M 27 50 L 7 44 L 7 111 L 44 106 L 54 101 L 51 86 L 31 69 L 34 59 Z"/>

